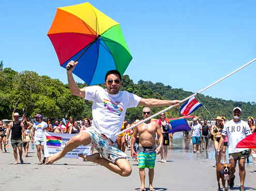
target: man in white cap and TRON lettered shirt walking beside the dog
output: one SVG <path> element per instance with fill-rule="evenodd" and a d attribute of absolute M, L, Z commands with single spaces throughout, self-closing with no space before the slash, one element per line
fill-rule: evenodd
<path fill-rule="evenodd" d="M 220 154 L 220 148 L 223 145 L 225 136 L 228 136 L 228 145 L 229 145 L 229 163 L 232 166 L 231 169 L 231 180 L 230 187 L 234 186 L 235 180 L 235 167 L 238 160 L 239 165 L 239 177 L 240 177 L 240 191 L 244 191 L 244 182 L 245 182 L 245 159 L 250 153 L 249 149 L 240 149 L 236 148 L 236 145 L 239 141 L 251 134 L 249 125 L 247 122 L 240 120 L 242 115 L 242 109 L 240 107 L 235 107 L 233 109 L 233 120 L 225 123 L 222 136 L 219 141 L 219 147 L 217 153 Z"/>

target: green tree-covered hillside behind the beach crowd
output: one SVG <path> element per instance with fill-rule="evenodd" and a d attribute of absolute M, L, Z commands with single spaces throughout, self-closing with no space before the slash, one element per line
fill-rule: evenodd
<path fill-rule="evenodd" d="M 87 86 L 78 84 L 79 87 Z M 101 85 L 104 87 L 103 85 Z M 123 76 L 123 86 L 121 90 L 135 93 L 143 98 L 157 99 L 179 99 L 183 100 L 192 92 L 183 89 L 165 86 L 162 83 L 152 83 L 150 81 L 139 81 L 134 84 L 128 75 Z M 231 100 L 216 99 L 199 94 L 198 98 L 214 117 L 225 116 L 232 118 L 232 109 L 236 106 L 243 109 L 243 119 L 248 116 L 256 116 L 255 103 L 234 102 Z M 58 79 L 48 76 L 39 76 L 33 71 L 16 72 L 10 68 L 5 68 L 0 72 L 0 120 L 10 119 L 12 112 L 19 112 L 28 117 L 33 117 L 41 113 L 43 117 L 50 119 L 68 118 L 75 119 L 92 117 L 92 102 L 84 101 L 79 97 L 71 95 L 68 85 L 63 84 Z M 155 114 L 165 107 L 152 108 Z M 132 122 L 135 116 L 141 117 L 142 106 L 129 108 L 126 113 L 126 120 Z M 191 115 L 202 119 L 212 119 L 207 111 L 200 107 Z M 168 110 L 169 118 L 180 117 L 179 108 Z"/>

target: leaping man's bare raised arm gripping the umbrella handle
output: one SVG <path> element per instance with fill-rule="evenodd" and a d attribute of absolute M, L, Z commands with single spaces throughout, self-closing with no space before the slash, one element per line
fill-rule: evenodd
<path fill-rule="evenodd" d="M 74 62 L 73 60 L 71 60 L 70 62 L 68 62 L 66 66 L 66 68 L 68 68 L 69 66 L 72 66 L 69 70 L 67 70 L 68 85 L 69 85 L 71 94 L 77 95 L 81 98 L 85 98 L 85 89 L 78 87 L 77 83 L 74 81 L 73 74 L 72 74 L 72 70 L 76 67 L 77 64 L 78 62 Z"/>

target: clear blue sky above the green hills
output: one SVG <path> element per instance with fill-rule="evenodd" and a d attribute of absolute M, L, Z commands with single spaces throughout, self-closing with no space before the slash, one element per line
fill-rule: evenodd
<path fill-rule="evenodd" d="M 142 79 L 197 92 L 256 58 L 256 1 L 88 2 L 121 24 L 133 57 L 125 74 L 134 83 Z M 85 1 L 1 1 L 4 68 L 67 83 L 46 34 L 57 7 L 80 3 Z M 202 93 L 256 102 L 255 72 L 256 61 Z"/>

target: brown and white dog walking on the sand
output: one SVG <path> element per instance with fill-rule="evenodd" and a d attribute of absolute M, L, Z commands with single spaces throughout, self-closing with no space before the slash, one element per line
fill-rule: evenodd
<path fill-rule="evenodd" d="M 229 189 L 229 184 L 230 184 L 230 174 L 231 174 L 231 164 L 222 164 L 219 163 L 216 168 L 216 175 L 217 175 L 217 181 L 218 181 L 218 187 L 219 191 L 220 189 L 220 178 L 222 182 L 222 187 L 223 191 Z M 228 180 L 228 187 L 227 189 L 225 188 L 225 181 Z"/>

